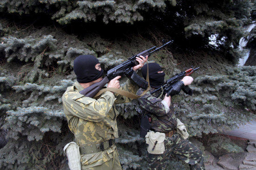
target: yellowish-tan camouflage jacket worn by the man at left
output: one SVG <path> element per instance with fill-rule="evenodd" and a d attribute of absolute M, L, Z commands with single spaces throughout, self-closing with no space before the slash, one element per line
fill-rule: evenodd
<path fill-rule="evenodd" d="M 79 82 L 67 88 L 62 96 L 64 113 L 68 127 L 74 133 L 75 142 L 81 145 L 95 145 L 109 139 L 118 138 L 115 104 L 129 102 L 131 99 L 106 91 L 98 99 L 79 93 L 83 87 Z M 123 90 L 135 93 L 133 82 L 128 81 Z M 115 145 L 105 151 L 81 155 L 83 169 L 101 165 L 113 157 Z"/>

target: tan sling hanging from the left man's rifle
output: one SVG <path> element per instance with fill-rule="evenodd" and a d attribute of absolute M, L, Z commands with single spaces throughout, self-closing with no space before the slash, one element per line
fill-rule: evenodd
<path fill-rule="evenodd" d="M 147 64 L 148 64 L 148 62 L 147 62 Z M 101 89 L 97 94 L 95 94 L 94 98 L 97 98 L 98 96 L 100 96 L 102 93 L 104 93 L 106 91 L 110 91 L 110 92 L 115 92 L 117 94 L 121 94 L 121 95 L 126 96 L 126 97 L 131 98 L 131 99 L 138 99 L 141 96 L 143 96 L 144 94 L 146 94 L 147 91 L 150 88 L 148 72 L 147 72 L 147 80 L 146 81 L 148 82 L 148 88 L 146 90 L 144 90 L 141 95 L 133 94 L 131 92 L 128 92 L 128 91 L 125 91 L 125 90 L 122 90 L 122 89 L 119 89 L 119 88 L 104 88 L 104 89 Z"/>

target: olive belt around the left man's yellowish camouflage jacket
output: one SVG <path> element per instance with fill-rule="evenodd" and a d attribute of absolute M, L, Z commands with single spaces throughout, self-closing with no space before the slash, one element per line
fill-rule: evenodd
<path fill-rule="evenodd" d="M 86 154 L 90 154 L 90 153 L 104 151 L 104 150 L 110 148 L 112 145 L 115 145 L 114 139 L 110 139 L 105 142 L 101 142 L 100 144 L 81 145 L 79 147 L 79 150 L 80 150 L 81 155 L 86 155 Z"/>

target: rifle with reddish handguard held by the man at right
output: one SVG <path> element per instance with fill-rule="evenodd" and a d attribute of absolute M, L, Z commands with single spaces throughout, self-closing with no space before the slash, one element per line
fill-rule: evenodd
<path fill-rule="evenodd" d="M 180 74 L 177 74 L 176 76 L 173 76 L 172 78 L 169 78 L 162 87 L 155 89 L 154 91 L 152 91 L 150 94 L 153 94 L 161 89 L 163 89 L 163 91 L 168 88 L 169 86 L 173 85 L 175 82 L 182 80 L 183 77 L 185 76 L 189 76 L 192 73 L 194 73 L 195 70 L 199 69 L 200 67 L 197 68 L 193 68 L 193 66 L 191 66 L 190 69 L 187 69 L 186 71 L 181 72 Z M 182 88 L 182 90 L 184 91 L 184 93 L 192 95 L 193 94 L 193 90 L 191 88 L 189 88 L 189 86 L 185 86 L 184 88 Z M 158 97 L 161 93 L 159 93 L 156 97 Z"/>

